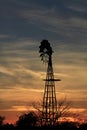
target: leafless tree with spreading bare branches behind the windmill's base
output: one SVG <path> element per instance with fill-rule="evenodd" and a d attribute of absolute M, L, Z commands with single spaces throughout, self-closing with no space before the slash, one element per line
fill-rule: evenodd
<path fill-rule="evenodd" d="M 32 106 L 38 111 L 39 119 L 42 118 L 42 101 L 33 102 Z M 72 101 L 68 101 L 66 97 L 57 101 L 57 116 L 56 119 L 59 121 L 60 118 L 67 119 L 67 117 L 76 118 L 77 113 L 72 112 Z"/>

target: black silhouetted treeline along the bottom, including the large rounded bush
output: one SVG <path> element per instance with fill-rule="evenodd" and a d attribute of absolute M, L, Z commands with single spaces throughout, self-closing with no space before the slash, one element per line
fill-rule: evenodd
<path fill-rule="evenodd" d="M 30 129 L 57 129 L 57 130 L 70 130 L 70 129 L 83 129 L 87 130 L 87 123 L 79 124 L 78 122 L 57 122 L 55 125 L 41 125 L 40 117 L 34 113 L 29 112 L 19 116 L 15 124 L 4 124 L 5 117 L 0 116 L 0 130 L 30 130 Z"/>

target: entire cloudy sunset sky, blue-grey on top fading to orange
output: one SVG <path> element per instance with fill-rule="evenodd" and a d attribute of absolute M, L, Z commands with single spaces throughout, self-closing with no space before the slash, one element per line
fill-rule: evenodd
<path fill-rule="evenodd" d="M 13 123 L 42 100 L 43 39 L 61 79 L 57 100 L 73 101 L 73 110 L 87 120 L 87 0 L 0 0 L 0 115 Z"/>

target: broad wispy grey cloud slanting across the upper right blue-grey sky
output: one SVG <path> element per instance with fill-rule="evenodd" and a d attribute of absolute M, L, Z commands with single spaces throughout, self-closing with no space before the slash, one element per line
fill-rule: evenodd
<path fill-rule="evenodd" d="M 58 9 L 58 8 L 57 8 Z M 66 9 L 65 9 L 66 10 Z M 70 10 L 67 11 L 70 13 Z M 71 11 L 72 12 L 72 11 Z M 84 13 L 84 12 L 83 12 Z M 58 14 L 58 11 L 55 8 L 42 8 L 42 9 L 31 9 L 31 10 L 21 10 L 18 12 L 18 15 L 33 24 L 33 26 L 38 26 L 38 31 L 41 28 L 41 32 L 44 35 L 44 31 L 48 37 L 51 35 L 54 39 L 59 39 L 68 42 L 80 43 L 86 41 L 86 19 L 82 16 L 78 17 L 76 12 L 73 12 L 73 15 L 70 14 L 68 19 L 64 15 Z M 61 17 L 60 17 L 61 16 Z M 77 37 L 77 38 L 76 38 Z"/>

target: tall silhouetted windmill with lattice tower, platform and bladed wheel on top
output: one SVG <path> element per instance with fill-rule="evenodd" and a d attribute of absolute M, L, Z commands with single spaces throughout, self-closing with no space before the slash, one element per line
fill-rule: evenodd
<path fill-rule="evenodd" d="M 46 79 L 44 79 L 45 90 L 42 104 L 42 124 L 54 125 L 57 121 L 58 114 L 55 81 L 60 81 L 60 79 L 54 79 L 54 72 L 52 66 L 53 51 L 48 40 L 42 40 L 39 48 L 41 60 L 48 65 Z"/>

